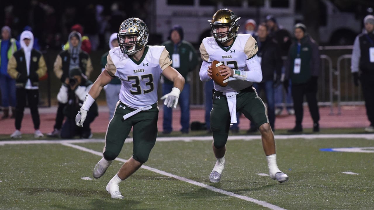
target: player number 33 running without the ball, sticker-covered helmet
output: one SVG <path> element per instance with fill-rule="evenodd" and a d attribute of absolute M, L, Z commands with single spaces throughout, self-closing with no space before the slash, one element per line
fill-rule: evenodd
<path fill-rule="evenodd" d="M 122 22 L 117 34 L 119 47 L 109 51 L 107 65 L 86 95 L 76 116 L 76 124 L 83 126 L 86 113 L 103 87 L 114 77 L 121 80 L 119 101 L 105 135 L 103 157 L 93 169 L 93 177 L 104 175 L 112 161 L 119 155 L 131 128 L 133 129 L 133 155 L 109 181 L 106 190 L 112 198 L 123 198 L 119 183 L 137 171 L 148 160 L 156 142 L 157 87 L 161 74 L 174 81 L 172 91 L 161 99 L 164 105 L 176 107 L 184 78 L 171 67 L 169 52 L 165 46 L 148 46 L 148 28 L 139 18 Z"/>

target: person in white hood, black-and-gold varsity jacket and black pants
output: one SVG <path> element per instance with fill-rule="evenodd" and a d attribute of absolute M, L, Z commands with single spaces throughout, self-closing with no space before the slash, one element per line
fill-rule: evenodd
<path fill-rule="evenodd" d="M 43 137 L 40 132 L 39 104 L 39 78 L 47 72 L 47 66 L 42 53 L 33 49 L 34 35 L 31 31 L 24 31 L 20 38 L 21 49 L 16 51 L 9 59 L 7 72 L 16 80 L 16 116 L 15 132 L 11 138 L 21 138 L 21 123 L 24 116 L 26 99 L 30 107 L 34 123 L 36 138 Z"/>

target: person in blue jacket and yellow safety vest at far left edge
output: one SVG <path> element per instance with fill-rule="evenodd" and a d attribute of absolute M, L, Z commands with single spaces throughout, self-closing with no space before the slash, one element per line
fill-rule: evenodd
<path fill-rule="evenodd" d="M 12 107 L 12 116 L 15 115 L 16 107 L 16 81 L 12 79 L 7 73 L 7 65 L 13 53 L 19 48 L 18 41 L 11 38 L 11 31 L 8 26 L 1 28 L 0 39 L 0 90 L 1 90 L 1 105 L 3 106 L 3 116 L 1 119 L 9 117 L 9 106 Z"/>

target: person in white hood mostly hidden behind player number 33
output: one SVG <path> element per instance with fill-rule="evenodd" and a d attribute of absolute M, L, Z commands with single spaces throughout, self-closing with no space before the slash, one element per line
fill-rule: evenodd
<path fill-rule="evenodd" d="M 117 33 L 113 33 L 109 38 L 109 49 L 113 47 L 118 47 Z M 105 65 L 107 65 L 107 56 L 109 51 L 101 56 L 101 71 L 105 70 Z M 119 78 L 113 78 L 109 84 L 104 86 L 105 97 L 107 99 L 107 105 L 109 108 L 109 120 L 113 117 L 114 109 L 119 101 L 119 93 L 121 90 L 121 80 Z"/>

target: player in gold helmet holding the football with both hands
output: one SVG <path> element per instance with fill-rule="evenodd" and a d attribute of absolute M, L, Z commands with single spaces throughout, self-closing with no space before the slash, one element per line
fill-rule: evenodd
<path fill-rule="evenodd" d="M 225 166 L 226 142 L 230 123 L 236 123 L 236 112 L 240 111 L 253 121 L 261 132 L 261 139 L 269 167 L 270 178 L 285 182 L 288 176 L 278 169 L 276 163 L 275 140 L 267 117 L 264 102 L 258 97 L 252 83 L 262 80 L 261 65 L 256 55 L 255 39 L 249 34 L 237 34 L 237 17 L 229 9 L 220 9 L 212 20 L 213 37 L 204 38 L 200 45 L 200 80 L 211 80 L 211 63 L 221 61 L 224 65 L 221 75 L 229 78 L 226 87 L 214 83 L 213 109 L 210 115 L 213 133 L 213 152 L 217 161 L 209 176 L 211 182 L 219 182 Z"/>

